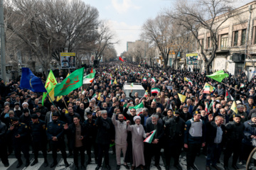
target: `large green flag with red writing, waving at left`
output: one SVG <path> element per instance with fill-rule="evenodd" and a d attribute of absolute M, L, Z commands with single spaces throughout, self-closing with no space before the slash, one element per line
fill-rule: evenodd
<path fill-rule="evenodd" d="M 84 67 L 71 73 L 69 77 L 65 78 L 60 84 L 55 86 L 54 96 L 68 95 L 70 91 L 82 86 L 83 74 Z"/>

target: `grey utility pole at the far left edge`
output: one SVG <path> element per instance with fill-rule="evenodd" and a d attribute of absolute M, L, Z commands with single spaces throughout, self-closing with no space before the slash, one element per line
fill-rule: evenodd
<path fill-rule="evenodd" d="M 5 34 L 4 34 L 4 0 L 0 0 L 0 31 L 1 31 L 1 79 L 6 83 L 6 58 L 5 58 Z"/>

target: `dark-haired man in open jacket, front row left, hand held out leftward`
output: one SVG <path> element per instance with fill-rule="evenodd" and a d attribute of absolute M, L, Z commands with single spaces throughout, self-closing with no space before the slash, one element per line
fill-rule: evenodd
<path fill-rule="evenodd" d="M 78 167 L 78 153 L 81 157 L 81 169 L 85 169 L 85 146 L 82 140 L 85 137 L 85 126 L 80 123 L 78 116 L 73 117 L 73 123 L 71 125 L 65 124 L 65 130 L 68 130 L 70 136 L 70 147 L 74 150 L 74 164 L 75 169 Z"/>

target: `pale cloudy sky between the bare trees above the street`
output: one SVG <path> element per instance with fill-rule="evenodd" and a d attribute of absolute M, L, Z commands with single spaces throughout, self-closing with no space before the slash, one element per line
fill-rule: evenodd
<path fill-rule="evenodd" d="M 171 8 L 176 0 L 83 0 L 95 6 L 100 19 L 106 20 L 117 35 L 119 44 L 115 45 L 117 55 L 127 50 L 127 41 L 139 40 L 143 23 L 155 18 L 163 8 Z M 191 0 L 195 1 L 195 0 Z M 250 1 L 241 1 L 234 6 L 242 6 Z"/>

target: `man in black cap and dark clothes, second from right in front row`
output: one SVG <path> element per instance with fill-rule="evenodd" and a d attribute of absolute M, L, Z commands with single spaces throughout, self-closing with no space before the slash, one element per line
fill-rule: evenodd
<path fill-rule="evenodd" d="M 228 123 L 225 125 L 226 139 L 227 145 L 224 152 L 224 169 L 228 170 L 228 159 L 233 154 L 233 162 L 232 167 L 233 169 L 239 169 L 236 165 L 238 162 L 238 157 L 241 154 L 241 147 L 242 147 L 242 138 L 243 132 L 245 130 L 245 125 L 240 122 L 241 116 L 238 114 L 233 115 L 233 122 Z"/>

